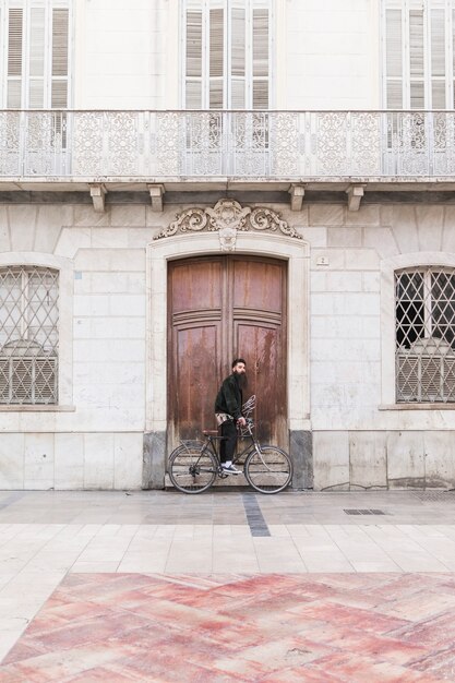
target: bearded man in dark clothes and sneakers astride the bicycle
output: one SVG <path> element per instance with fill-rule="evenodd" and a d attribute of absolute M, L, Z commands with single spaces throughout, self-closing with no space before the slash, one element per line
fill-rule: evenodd
<path fill-rule="evenodd" d="M 215 417 L 221 428 L 219 459 L 226 475 L 240 475 L 240 470 L 232 465 L 237 446 L 237 427 L 244 427 L 247 420 L 242 416 L 242 390 L 247 385 L 247 363 L 243 358 L 232 361 L 232 373 L 226 378 L 219 387 L 215 400 Z"/>

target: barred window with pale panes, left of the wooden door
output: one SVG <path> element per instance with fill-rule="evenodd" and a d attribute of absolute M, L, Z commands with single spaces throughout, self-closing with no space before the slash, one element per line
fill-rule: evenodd
<path fill-rule="evenodd" d="M 0 404 L 57 404 L 59 273 L 0 268 Z"/>

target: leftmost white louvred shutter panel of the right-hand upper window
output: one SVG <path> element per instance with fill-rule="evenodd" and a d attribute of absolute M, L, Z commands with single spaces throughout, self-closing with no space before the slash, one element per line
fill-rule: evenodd
<path fill-rule="evenodd" d="M 403 107 L 403 38 L 402 10 L 391 9 L 385 14 L 385 77 L 386 107 Z"/>

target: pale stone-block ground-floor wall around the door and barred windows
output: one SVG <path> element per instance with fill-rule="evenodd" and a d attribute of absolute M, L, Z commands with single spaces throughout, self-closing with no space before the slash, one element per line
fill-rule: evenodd
<path fill-rule="evenodd" d="M 455 486 L 455 411 L 391 399 L 390 298 L 396 263 L 455 266 L 455 205 L 393 199 L 363 202 L 358 212 L 342 203 L 303 204 L 300 212 L 268 204 L 308 245 L 302 255 L 294 244 L 289 251 L 289 334 L 300 335 L 304 324 L 310 342 L 309 351 L 292 347 L 288 375 L 292 450 L 304 441 L 304 457 L 296 456 L 298 488 L 311 486 L 311 447 L 320 490 Z M 39 410 L 0 407 L 0 488 L 159 488 L 166 384 L 151 378 L 166 367 L 166 267 L 155 281 L 146 252 L 158 230 L 192 205 L 154 213 L 141 203 L 111 204 L 104 214 L 79 203 L 0 205 L 1 264 L 61 260 L 69 283 L 62 292 L 69 322 L 60 331 L 68 399 Z M 207 239 L 219 249 L 216 235 Z M 180 236 L 175 256 L 205 253 L 204 243 Z M 242 244 L 244 253 L 278 253 L 268 233 L 242 233 L 240 252 Z"/>

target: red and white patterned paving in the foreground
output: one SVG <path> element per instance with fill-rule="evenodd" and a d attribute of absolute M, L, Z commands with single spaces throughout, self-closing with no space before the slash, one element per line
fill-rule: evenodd
<path fill-rule="evenodd" d="M 446 574 L 71 574 L 0 681 L 452 681 L 454 586 Z"/>

